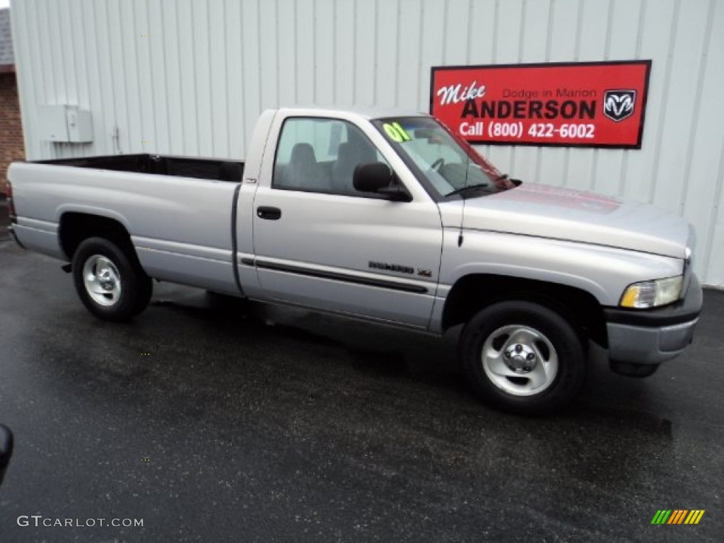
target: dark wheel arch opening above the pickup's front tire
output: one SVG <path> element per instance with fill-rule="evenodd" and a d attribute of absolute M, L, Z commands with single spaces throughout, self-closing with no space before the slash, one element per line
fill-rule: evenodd
<path fill-rule="evenodd" d="M 539 303 L 583 329 L 597 344 L 608 345 L 603 308 L 590 292 L 561 283 L 496 274 L 469 274 L 455 282 L 445 298 L 442 329 L 463 324 L 481 309 L 508 300 Z"/>

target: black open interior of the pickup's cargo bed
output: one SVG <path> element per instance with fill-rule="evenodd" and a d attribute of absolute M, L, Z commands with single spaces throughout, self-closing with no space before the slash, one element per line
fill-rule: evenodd
<path fill-rule="evenodd" d="M 244 172 L 243 161 L 194 159 L 187 156 L 162 156 L 149 153 L 41 160 L 36 161 L 34 164 L 56 164 L 58 166 L 173 175 L 230 182 L 241 182 Z"/>

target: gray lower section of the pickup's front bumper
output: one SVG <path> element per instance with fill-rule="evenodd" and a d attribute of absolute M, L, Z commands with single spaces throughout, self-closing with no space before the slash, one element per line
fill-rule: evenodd
<path fill-rule="evenodd" d="M 660 364 L 675 358 L 691 343 L 699 319 L 649 328 L 608 323 L 608 357 L 632 364 Z"/>

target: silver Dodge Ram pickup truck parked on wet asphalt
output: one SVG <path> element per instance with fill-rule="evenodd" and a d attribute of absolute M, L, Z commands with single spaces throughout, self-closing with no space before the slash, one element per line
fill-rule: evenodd
<path fill-rule="evenodd" d="M 12 235 L 69 264 L 96 316 L 152 279 L 442 334 L 485 401 L 549 413 L 595 343 L 652 374 L 691 342 L 694 232 L 652 206 L 523 185 L 424 114 L 277 109 L 245 162 L 14 163 Z"/>

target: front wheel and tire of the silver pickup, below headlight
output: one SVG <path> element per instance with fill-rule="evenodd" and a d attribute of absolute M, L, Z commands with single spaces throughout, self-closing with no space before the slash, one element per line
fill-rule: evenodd
<path fill-rule="evenodd" d="M 485 403 L 512 413 L 548 415 L 573 400 L 586 379 L 582 337 L 537 303 L 495 303 L 460 337 L 469 384 Z"/>

